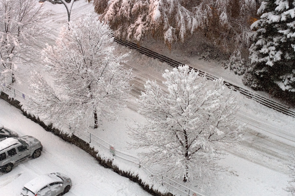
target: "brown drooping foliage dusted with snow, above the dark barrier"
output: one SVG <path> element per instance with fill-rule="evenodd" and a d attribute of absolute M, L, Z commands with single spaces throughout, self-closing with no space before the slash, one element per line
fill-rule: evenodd
<path fill-rule="evenodd" d="M 249 43 L 249 22 L 256 14 L 255 0 L 94 0 L 94 6 L 116 37 L 140 42 L 153 35 L 169 48 L 202 30 L 225 49 L 233 42 L 241 49 Z"/>

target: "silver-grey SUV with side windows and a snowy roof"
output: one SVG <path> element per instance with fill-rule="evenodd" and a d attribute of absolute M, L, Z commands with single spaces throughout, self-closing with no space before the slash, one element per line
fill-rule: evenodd
<path fill-rule="evenodd" d="M 0 141 L 0 169 L 8 173 L 15 163 L 27 157 L 37 158 L 41 155 L 42 150 L 41 142 L 32 136 L 9 137 L 2 140 Z"/>

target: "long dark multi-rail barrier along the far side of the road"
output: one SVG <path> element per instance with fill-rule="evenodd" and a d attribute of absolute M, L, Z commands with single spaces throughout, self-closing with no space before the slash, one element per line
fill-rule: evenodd
<path fill-rule="evenodd" d="M 184 65 L 184 63 L 181 63 L 179 61 L 171 59 L 171 58 L 164 56 L 158 52 L 152 51 L 152 50 L 145 48 L 143 46 L 138 46 L 136 43 L 133 43 L 133 42 L 130 42 L 127 40 L 117 39 L 117 38 L 114 38 L 114 41 L 116 41 L 117 43 L 119 43 L 121 45 L 132 48 L 132 49 L 140 52 L 141 54 L 152 57 L 154 59 L 158 59 L 161 62 L 167 63 L 168 65 L 171 65 L 172 67 L 178 67 L 179 65 Z M 189 66 L 189 68 L 193 69 L 193 67 L 191 67 L 191 66 Z M 202 70 L 198 70 L 198 71 L 199 71 L 200 75 L 204 75 L 207 79 L 210 79 L 210 80 L 218 79 L 218 77 L 208 74 Z M 235 91 L 239 91 L 241 94 L 245 95 L 247 98 L 253 99 L 256 102 L 258 102 L 266 107 L 269 107 L 273 110 L 277 110 L 278 112 L 281 112 L 281 113 L 286 114 L 288 116 L 295 117 L 294 111 L 289 110 L 289 108 L 287 108 L 285 105 L 283 105 L 279 102 L 273 101 L 273 100 L 266 98 L 262 95 L 254 93 L 250 90 L 246 90 L 246 89 L 244 89 L 240 86 L 234 85 L 230 82 L 224 81 L 224 83 L 226 86 L 234 88 Z"/>

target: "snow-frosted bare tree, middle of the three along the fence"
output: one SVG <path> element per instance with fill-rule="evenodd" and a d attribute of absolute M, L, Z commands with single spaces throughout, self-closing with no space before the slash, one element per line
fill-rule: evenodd
<path fill-rule="evenodd" d="M 97 128 L 102 117 L 115 117 L 116 109 L 124 107 L 128 98 L 133 76 L 121 64 L 129 54 L 114 55 L 112 42 L 108 24 L 97 16 L 87 14 L 69 22 L 61 29 L 56 46 L 47 45 L 42 51 L 50 77 L 46 80 L 45 75 L 32 73 L 33 95 L 27 109 L 60 129 L 70 122 L 70 133 L 93 122 Z"/>

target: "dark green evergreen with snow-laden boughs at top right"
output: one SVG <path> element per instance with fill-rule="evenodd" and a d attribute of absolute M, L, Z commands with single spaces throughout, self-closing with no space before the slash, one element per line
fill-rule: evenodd
<path fill-rule="evenodd" d="M 254 89 L 279 87 L 295 92 L 295 1 L 265 0 L 250 47 L 251 66 L 244 83 Z M 274 86 L 274 87 L 273 87 Z"/>

